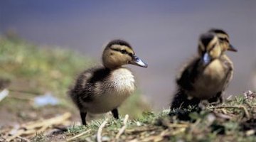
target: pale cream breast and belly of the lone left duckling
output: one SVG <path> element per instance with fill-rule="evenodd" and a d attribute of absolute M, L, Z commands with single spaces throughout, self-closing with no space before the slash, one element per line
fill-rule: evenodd
<path fill-rule="evenodd" d="M 127 68 L 113 70 L 103 83 L 95 84 L 93 102 L 87 103 L 90 113 L 104 113 L 119 107 L 134 92 L 135 80 Z"/>

